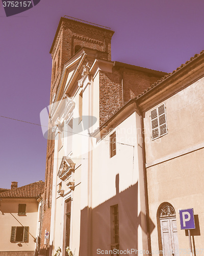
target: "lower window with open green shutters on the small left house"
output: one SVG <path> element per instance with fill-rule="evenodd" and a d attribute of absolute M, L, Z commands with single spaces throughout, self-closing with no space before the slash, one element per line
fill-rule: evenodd
<path fill-rule="evenodd" d="M 29 242 L 29 227 L 11 227 L 11 243 Z"/>

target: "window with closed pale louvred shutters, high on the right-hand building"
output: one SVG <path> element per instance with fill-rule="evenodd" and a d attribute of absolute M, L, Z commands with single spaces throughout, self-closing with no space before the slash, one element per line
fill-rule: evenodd
<path fill-rule="evenodd" d="M 167 134 L 165 105 L 162 104 L 157 109 L 150 112 L 151 117 L 151 139 L 155 140 Z"/>

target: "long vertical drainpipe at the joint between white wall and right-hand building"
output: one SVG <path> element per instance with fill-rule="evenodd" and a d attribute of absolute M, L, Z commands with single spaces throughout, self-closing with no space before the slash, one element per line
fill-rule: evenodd
<path fill-rule="evenodd" d="M 141 120 L 141 137 L 142 137 L 142 156 L 143 156 L 143 174 L 144 174 L 144 195 L 145 195 L 145 209 L 146 209 L 146 225 L 147 225 L 147 248 L 149 255 L 151 255 L 151 238 L 150 238 L 150 230 L 149 230 L 149 202 L 148 202 L 148 189 L 147 189 L 147 174 L 146 174 L 146 154 L 145 154 L 145 141 L 144 141 L 144 120 L 141 109 L 138 106 L 138 102 L 136 100 L 137 109 L 140 115 Z"/>

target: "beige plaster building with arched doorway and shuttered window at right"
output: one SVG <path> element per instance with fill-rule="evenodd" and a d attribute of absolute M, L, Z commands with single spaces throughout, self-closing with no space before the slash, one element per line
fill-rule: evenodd
<path fill-rule="evenodd" d="M 192 252 L 204 254 L 203 59 L 202 51 L 137 98 L 144 127 L 149 238 L 151 250 L 163 250 L 163 255 L 190 254 L 179 218 L 179 210 L 188 208 L 195 218 Z"/>

